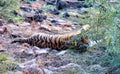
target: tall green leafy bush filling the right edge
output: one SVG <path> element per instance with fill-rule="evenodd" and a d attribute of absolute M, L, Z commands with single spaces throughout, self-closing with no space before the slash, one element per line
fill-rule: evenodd
<path fill-rule="evenodd" d="M 111 67 L 120 66 L 120 4 L 111 4 L 108 0 L 94 1 L 94 8 L 99 10 L 96 19 L 93 19 L 90 34 L 92 39 L 103 39 L 97 46 L 104 45 L 107 50 L 101 58 L 101 63 L 109 63 Z M 93 34 L 93 33 L 94 34 Z M 88 34 L 89 35 L 89 34 Z M 90 35 L 89 35 L 90 36 Z"/>

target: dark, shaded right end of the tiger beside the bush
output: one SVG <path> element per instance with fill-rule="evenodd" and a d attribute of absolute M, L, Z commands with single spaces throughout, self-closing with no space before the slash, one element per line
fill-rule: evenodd
<path fill-rule="evenodd" d="M 66 46 L 84 52 L 89 47 L 89 42 L 88 37 L 72 37 L 70 40 L 66 41 Z"/>

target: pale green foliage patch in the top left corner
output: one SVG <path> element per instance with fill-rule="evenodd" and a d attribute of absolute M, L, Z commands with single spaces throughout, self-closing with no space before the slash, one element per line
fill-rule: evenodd
<path fill-rule="evenodd" d="M 0 18 L 8 20 L 16 17 L 13 11 L 19 11 L 19 5 L 19 0 L 0 0 Z"/>

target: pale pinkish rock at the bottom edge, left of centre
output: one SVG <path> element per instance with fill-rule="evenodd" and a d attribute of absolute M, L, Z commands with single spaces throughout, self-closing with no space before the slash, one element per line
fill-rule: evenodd
<path fill-rule="evenodd" d="M 19 64 L 16 69 L 22 71 L 23 74 L 45 74 L 44 70 L 36 63 L 36 59 L 32 59 L 25 63 Z"/>

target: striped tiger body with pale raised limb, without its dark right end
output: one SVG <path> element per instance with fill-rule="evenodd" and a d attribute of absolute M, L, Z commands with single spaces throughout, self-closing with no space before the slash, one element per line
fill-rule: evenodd
<path fill-rule="evenodd" d="M 51 48 L 56 50 L 64 50 L 67 49 L 67 41 L 70 40 L 71 37 L 76 36 L 82 32 L 82 30 L 89 29 L 89 25 L 82 26 L 79 30 L 73 31 L 66 34 L 45 34 L 45 33 L 37 33 L 33 34 L 28 38 L 17 38 L 11 41 L 11 43 L 28 43 L 31 46 L 37 46 L 40 48 Z M 81 40 L 82 41 L 82 40 Z M 87 43 L 87 42 L 84 42 Z M 69 43 L 73 44 L 73 43 Z"/>

